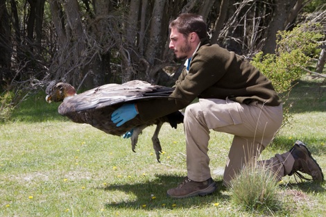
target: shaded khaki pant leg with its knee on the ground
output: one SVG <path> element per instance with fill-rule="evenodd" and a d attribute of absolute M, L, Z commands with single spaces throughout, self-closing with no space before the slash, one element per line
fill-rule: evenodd
<path fill-rule="evenodd" d="M 257 157 L 271 143 L 275 132 L 282 125 L 282 105 L 279 107 L 241 105 L 241 107 L 243 123 L 237 126 L 225 126 L 223 129 L 214 129 L 234 134 L 223 175 L 223 184 L 226 186 L 230 184 L 232 178 L 239 173 L 243 166 L 255 164 Z M 275 159 L 271 160 L 276 162 Z M 272 164 L 272 162 L 269 161 L 268 164 Z M 271 167 L 273 170 L 276 169 L 276 164 L 274 165 Z M 284 166 L 284 164 L 278 165 Z M 283 168 L 277 169 L 284 170 Z"/>

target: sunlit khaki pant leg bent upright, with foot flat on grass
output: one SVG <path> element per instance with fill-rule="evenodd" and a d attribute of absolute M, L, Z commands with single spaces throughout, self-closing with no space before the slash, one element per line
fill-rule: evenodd
<path fill-rule="evenodd" d="M 219 99 L 200 99 L 185 110 L 188 177 L 201 182 L 211 177 L 209 169 L 209 129 L 242 123 L 238 107 Z M 241 130 L 241 128 L 239 129 Z"/>

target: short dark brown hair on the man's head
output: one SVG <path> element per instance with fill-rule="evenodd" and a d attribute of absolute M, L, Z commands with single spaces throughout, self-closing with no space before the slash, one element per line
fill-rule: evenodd
<path fill-rule="evenodd" d="M 203 17 L 195 14 L 181 14 L 171 21 L 169 28 L 176 28 L 178 32 L 187 37 L 189 33 L 197 33 L 200 39 L 207 37 L 207 24 Z"/>

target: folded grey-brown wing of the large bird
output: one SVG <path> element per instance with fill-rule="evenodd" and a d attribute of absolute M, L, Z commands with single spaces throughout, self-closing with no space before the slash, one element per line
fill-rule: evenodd
<path fill-rule="evenodd" d="M 151 85 L 141 80 L 132 80 L 122 85 L 103 85 L 74 97 L 66 98 L 58 111 L 60 114 L 66 115 L 71 112 L 102 109 L 119 103 L 146 100 L 148 98 L 168 98 L 172 92 L 172 87 Z"/>

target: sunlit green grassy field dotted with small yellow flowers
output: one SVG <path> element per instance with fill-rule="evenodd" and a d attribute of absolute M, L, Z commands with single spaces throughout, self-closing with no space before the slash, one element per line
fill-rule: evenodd
<path fill-rule="evenodd" d="M 263 159 L 284 153 L 299 139 L 326 171 L 326 87 L 305 78 L 295 86 L 291 123 L 264 150 Z M 10 123 L 0 125 L 0 216 L 324 216 L 326 184 L 284 177 L 277 210 L 243 210 L 222 186 L 230 134 L 211 133 L 209 156 L 218 190 L 211 196 L 175 200 L 166 190 L 186 174 L 183 127 L 164 125 L 164 153 L 157 163 L 154 128 L 130 140 L 76 124 L 47 104 L 44 95 L 24 102 Z"/>

